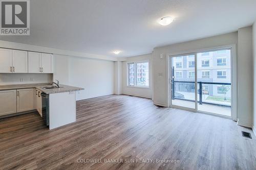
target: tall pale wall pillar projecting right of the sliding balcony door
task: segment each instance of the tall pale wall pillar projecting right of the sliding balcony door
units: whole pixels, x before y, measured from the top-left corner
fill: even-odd
[[[252,27],[238,30],[238,125],[252,127]]]

